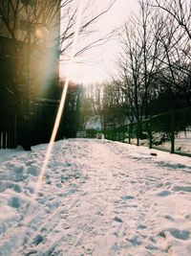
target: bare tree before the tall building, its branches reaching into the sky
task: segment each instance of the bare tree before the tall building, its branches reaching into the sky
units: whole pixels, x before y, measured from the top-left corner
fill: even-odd
[[[81,55],[84,51],[103,43],[112,35],[111,32],[102,37],[97,35],[92,40],[86,39],[87,36],[95,33],[92,26],[106,12],[109,12],[116,0],[111,0],[104,10],[97,12],[92,9],[93,0],[84,2],[78,32],[80,43],[75,48],[74,56]],[[68,58],[68,51],[74,41],[77,8],[76,0],[0,0],[0,33],[15,42],[12,48],[14,58],[11,61],[15,68],[12,68],[14,74],[11,77],[15,83],[21,83],[22,69],[25,69],[24,73],[27,74],[25,79],[27,82],[24,81],[25,94],[32,95],[34,89],[32,84],[29,85],[32,81],[37,79],[35,83],[38,84],[42,84],[43,80],[50,81],[53,69],[58,66],[60,55],[62,59]],[[51,71],[47,72],[49,78],[46,78],[45,71],[50,70],[51,64]],[[32,78],[34,70],[37,73]],[[6,85],[7,91],[13,94],[13,90],[17,88],[14,87],[11,88],[10,84]],[[20,90],[22,90],[21,87]],[[43,86],[35,86],[35,90],[38,90],[36,95],[40,93],[40,88]]]

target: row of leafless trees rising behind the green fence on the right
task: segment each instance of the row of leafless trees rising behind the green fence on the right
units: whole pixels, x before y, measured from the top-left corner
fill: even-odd
[[[191,105],[191,2],[140,0],[120,36],[118,76],[105,82],[108,126]]]

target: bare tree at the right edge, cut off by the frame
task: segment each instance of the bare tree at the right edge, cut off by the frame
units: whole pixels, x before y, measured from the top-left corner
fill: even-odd
[[[160,74],[167,86],[170,107],[183,99],[183,105],[190,105],[190,1],[152,1],[150,6],[158,10],[162,28],[158,35],[163,48],[162,70]],[[182,106],[183,106],[182,105]]]

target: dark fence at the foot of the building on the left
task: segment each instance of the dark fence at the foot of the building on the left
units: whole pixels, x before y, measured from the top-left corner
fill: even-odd
[[[32,114],[28,119],[16,113],[0,113],[0,149],[14,149],[18,145],[48,143],[51,138],[55,115],[59,102],[39,100],[32,105]],[[13,109],[12,109],[13,112]],[[56,139],[61,139],[60,126]]]

